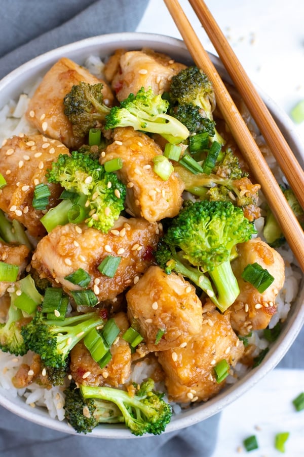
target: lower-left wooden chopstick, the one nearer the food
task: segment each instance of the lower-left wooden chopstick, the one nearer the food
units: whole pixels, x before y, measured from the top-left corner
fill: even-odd
[[[198,1],[198,0],[195,0]],[[212,81],[217,106],[229,126],[232,135],[248,162],[250,170],[267,199],[269,206],[280,222],[284,236],[304,272],[304,233],[289,207],[280,186],[266,160],[255,143],[247,125],[239,113],[231,95],[217,73],[209,55],[202,46],[177,0],[164,0],[183,40],[196,65],[203,69]]]

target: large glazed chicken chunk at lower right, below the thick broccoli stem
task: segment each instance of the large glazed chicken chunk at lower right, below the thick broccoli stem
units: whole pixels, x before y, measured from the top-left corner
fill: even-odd
[[[217,383],[215,365],[225,359],[230,366],[240,360],[244,345],[234,333],[229,318],[218,311],[203,314],[202,331],[185,347],[157,352],[165,371],[169,399],[176,402],[207,401],[224,387]]]

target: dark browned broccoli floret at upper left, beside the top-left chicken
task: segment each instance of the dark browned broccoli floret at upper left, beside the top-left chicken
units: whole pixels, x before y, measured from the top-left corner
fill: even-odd
[[[64,114],[72,124],[75,137],[84,137],[97,124],[102,124],[110,108],[103,103],[103,84],[80,82],[65,95]]]

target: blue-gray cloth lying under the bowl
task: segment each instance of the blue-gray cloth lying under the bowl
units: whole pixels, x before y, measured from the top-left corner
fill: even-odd
[[[153,1],[153,0],[151,0]],[[20,64],[73,41],[136,29],[148,0],[10,0],[0,15],[0,78]],[[300,334],[280,367],[304,368]],[[0,407],[2,457],[209,457],[219,415],[157,437],[112,440],[59,433],[20,419]]]

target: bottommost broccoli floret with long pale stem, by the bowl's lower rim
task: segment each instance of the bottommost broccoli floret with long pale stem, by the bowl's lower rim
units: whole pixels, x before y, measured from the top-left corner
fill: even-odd
[[[65,391],[65,417],[78,433],[91,432],[101,422],[125,422],[136,435],[159,435],[170,422],[171,407],[156,392],[148,379],[131,397],[127,391],[112,387],[74,385]]]

